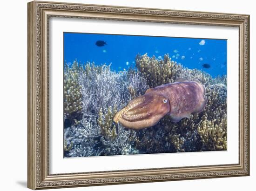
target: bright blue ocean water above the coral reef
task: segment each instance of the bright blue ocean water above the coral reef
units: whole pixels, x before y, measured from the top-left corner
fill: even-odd
[[[172,60],[190,69],[203,70],[213,77],[227,74],[227,40],[91,33],[63,36],[64,60],[69,64],[76,59],[81,63],[111,64],[111,69],[122,71],[135,67],[138,53],[158,59],[168,53]],[[107,45],[97,46],[98,40]]]

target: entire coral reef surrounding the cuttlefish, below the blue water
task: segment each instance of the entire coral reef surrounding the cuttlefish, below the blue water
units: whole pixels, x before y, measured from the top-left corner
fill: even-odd
[[[163,59],[138,54],[136,68],[115,72],[110,65],[78,63],[64,68],[64,156],[227,150],[227,80]],[[177,78],[199,79],[208,103],[203,112],[178,123],[169,116],[147,129],[131,130],[113,117],[150,87]]]

